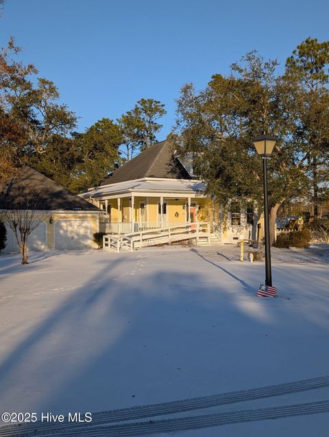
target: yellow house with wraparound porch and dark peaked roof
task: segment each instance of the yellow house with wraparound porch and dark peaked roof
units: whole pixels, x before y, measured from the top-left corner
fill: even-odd
[[[168,140],[151,145],[80,196],[105,211],[100,231],[109,234],[208,222],[212,243],[256,238],[252,205],[241,211],[232,202],[226,213],[204,194],[204,184],[193,175],[193,159],[177,156]]]

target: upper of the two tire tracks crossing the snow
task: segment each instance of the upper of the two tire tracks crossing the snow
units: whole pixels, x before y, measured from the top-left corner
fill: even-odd
[[[123,408],[120,410],[111,410],[105,412],[93,413],[93,422],[91,423],[34,423],[25,425],[7,425],[0,427],[0,437],[9,436],[41,436],[43,433],[61,433],[61,432],[78,432],[78,429],[87,429],[98,427],[109,423],[121,421],[140,420],[154,416],[164,416],[180,412],[201,410],[204,408],[217,407],[219,405],[228,405],[230,403],[239,403],[252,401],[256,399],[265,399],[268,397],[282,396],[303,392],[306,390],[315,390],[329,386],[329,375],[311,379],[302,379],[289,383],[281,383],[273,386],[252,388],[248,390],[239,390],[210,396],[197,397],[192,399],[182,399],[180,401],[171,401],[156,403],[151,405],[136,406]],[[214,425],[215,426],[215,425]],[[90,429],[91,431],[91,429]],[[45,434],[46,435],[46,434]]]

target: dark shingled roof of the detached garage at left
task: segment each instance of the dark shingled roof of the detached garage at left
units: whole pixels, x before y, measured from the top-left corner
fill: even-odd
[[[17,169],[12,177],[0,183],[0,209],[100,211],[27,166]]]

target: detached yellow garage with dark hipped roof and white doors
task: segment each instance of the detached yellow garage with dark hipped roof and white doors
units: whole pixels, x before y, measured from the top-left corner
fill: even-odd
[[[26,166],[1,182],[0,210],[21,209],[18,192],[24,199],[24,205],[33,205],[33,209],[43,213],[49,211],[49,218],[29,235],[29,250],[93,248],[93,233],[99,231],[99,215],[102,213],[97,206]],[[3,252],[19,252],[10,228]]]

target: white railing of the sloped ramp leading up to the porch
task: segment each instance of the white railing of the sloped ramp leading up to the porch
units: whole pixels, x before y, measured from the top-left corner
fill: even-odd
[[[163,226],[125,235],[104,235],[103,249],[116,252],[125,249],[133,252],[145,246],[170,244],[173,241],[187,239],[195,239],[198,243],[202,237],[210,243],[210,224],[208,222],[175,224],[175,226]]]

